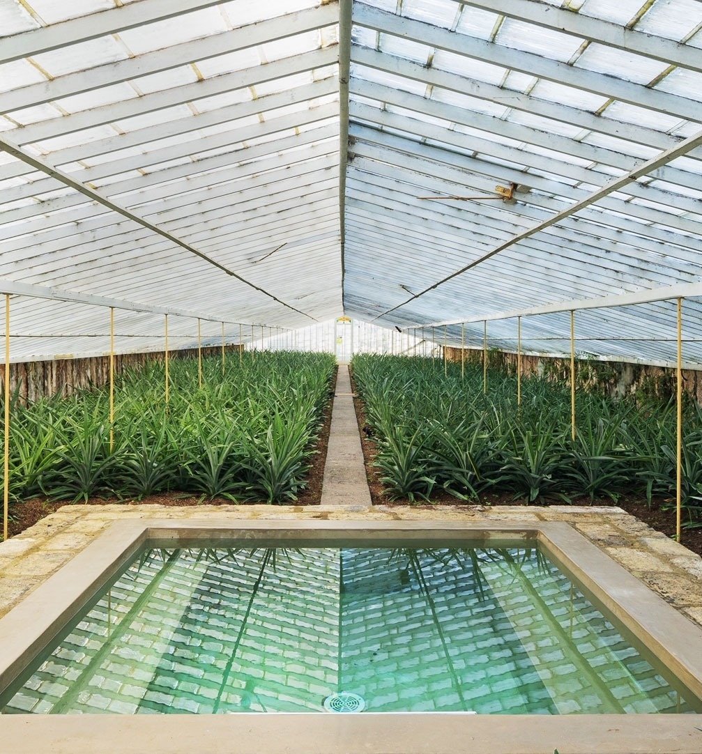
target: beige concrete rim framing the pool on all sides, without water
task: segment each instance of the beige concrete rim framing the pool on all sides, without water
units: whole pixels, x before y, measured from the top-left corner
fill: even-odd
[[[149,513],[154,513],[150,507]],[[63,510],[63,509],[62,509]],[[124,507],[121,507],[124,511]],[[130,509],[127,509],[130,510]],[[173,509],[168,510],[168,513]],[[237,512],[240,508],[235,509]],[[655,596],[624,567],[618,566],[602,549],[625,547],[614,544],[617,529],[596,531],[596,521],[581,517],[575,526],[590,530],[590,541],[576,528],[561,521],[544,521],[538,516],[563,515],[563,510],[553,508],[521,510],[444,510],[437,518],[437,510],[419,511],[397,509],[324,511],[320,508],[304,509],[308,515],[293,515],[298,511],[265,508],[265,516],[222,516],[222,507],[216,507],[209,516],[201,516],[201,507],[195,513],[170,516],[167,520],[152,520],[149,516],[131,516],[110,527],[65,569],[51,578],[29,599],[23,600],[16,610],[0,623],[0,673],[2,668],[17,667],[26,661],[26,647],[37,640],[46,630],[52,630],[63,621],[66,606],[81,599],[94,582],[108,578],[114,571],[110,564],[115,559],[124,561],[149,535],[164,535],[176,541],[187,531],[192,536],[195,530],[203,538],[212,535],[231,536],[232,530],[247,532],[250,536],[284,537],[294,532],[305,538],[337,535],[363,536],[375,534],[397,535],[415,538],[453,536],[458,532],[471,537],[501,532],[510,538],[522,532],[523,536],[538,537],[547,549],[566,563],[569,569],[584,581],[599,599],[615,611],[627,627],[654,648],[673,672],[692,690],[702,690],[702,630]],[[582,509],[580,509],[582,510]],[[627,516],[618,509],[585,508],[590,516],[601,519],[602,511],[615,511],[618,516]],[[383,513],[379,518],[371,512]],[[548,512],[548,513],[546,513]],[[577,510],[566,508],[573,515]],[[164,513],[159,510],[158,513]],[[283,513],[283,515],[280,515]],[[302,513],[302,511],[299,511]],[[407,515],[424,513],[425,515]],[[517,513],[517,515],[514,515]],[[502,514],[502,515],[500,515]],[[103,513],[104,515],[104,513]],[[611,515],[611,513],[609,513]],[[195,520],[197,516],[200,520]],[[587,513],[581,513],[587,516]],[[115,516],[122,517],[122,516]],[[327,520],[314,520],[326,518]],[[577,516],[576,516],[577,517]],[[631,519],[630,516],[628,516]],[[135,520],[136,519],[136,520]],[[139,520],[143,519],[143,520]],[[312,520],[310,520],[312,519]],[[511,520],[510,520],[511,519]],[[90,520],[90,519],[89,519]],[[93,520],[94,522],[94,520]],[[628,522],[636,529],[636,520]],[[572,522],[571,522],[572,524]],[[602,526],[602,521],[599,521]],[[93,527],[96,528],[97,527]],[[104,527],[100,527],[103,529]],[[612,529],[612,530],[610,530]],[[645,527],[648,529],[648,527]],[[486,531],[486,530],[489,530]],[[648,530],[650,532],[650,530]],[[64,532],[70,533],[70,532]],[[75,533],[75,532],[73,532]],[[639,533],[640,529],[639,529]],[[645,532],[648,533],[648,532]],[[595,535],[595,536],[593,536]],[[609,547],[595,546],[597,537],[605,538]],[[646,537],[645,537],[646,538]],[[654,538],[655,539],[655,538]],[[8,543],[10,544],[10,543]],[[656,543],[662,547],[661,543]],[[675,544],[675,543],[671,543]],[[679,547],[676,545],[676,547]],[[630,549],[630,548],[627,548]],[[685,548],[682,548],[684,550]],[[655,552],[653,548],[653,552]],[[668,550],[671,559],[686,558],[684,552],[675,548]],[[2,553],[2,550],[0,550]],[[651,553],[652,554],[652,553]],[[689,553],[690,555],[692,553]],[[29,555],[28,555],[29,557]],[[673,575],[673,569],[665,570],[667,562],[653,556],[652,562],[661,562],[661,572]],[[53,562],[51,563],[53,566]],[[648,562],[645,563],[648,565]],[[676,564],[679,567],[679,564]],[[692,578],[694,569],[689,572]],[[82,583],[81,583],[82,581]],[[2,582],[0,582],[2,583]],[[54,605],[51,608],[51,605]],[[63,612],[62,612],[63,611]],[[639,628],[640,627],[640,628]],[[642,634],[643,631],[643,634]],[[24,649],[23,649],[24,648]],[[13,671],[5,673],[5,679]],[[2,677],[2,675],[0,675]],[[150,716],[3,716],[0,719],[0,734],[10,745],[12,752],[71,752],[82,754],[104,748],[109,740],[111,752],[143,749],[149,739],[149,750],[158,752],[185,752],[197,748],[195,731],[207,736],[209,751],[305,751],[342,752],[351,745],[356,750],[367,752],[550,752],[560,748],[563,752],[688,752],[702,751],[702,715],[641,715],[641,716],[465,716],[461,713],[364,713],[363,716],[329,716],[315,713],[304,715],[241,714],[224,716],[168,716],[155,722]],[[195,722],[197,721],[197,722]],[[108,731],[115,733],[119,742]],[[181,731],[174,733],[174,731]],[[207,732],[206,732],[207,731]],[[392,735],[388,731],[394,731]],[[250,744],[245,743],[247,740]],[[189,744],[185,744],[190,740]],[[201,742],[201,738],[199,739]],[[114,745],[112,744],[114,742]],[[235,742],[235,743],[233,743]],[[123,747],[123,748],[120,748]]]

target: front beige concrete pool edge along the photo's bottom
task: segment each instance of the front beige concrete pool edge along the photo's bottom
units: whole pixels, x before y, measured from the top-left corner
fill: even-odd
[[[552,754],[555,749],[561,754],[699,754],[702,750],[696,715],[166,717],[10,715],[3,719],[2,738],[12,754]]]

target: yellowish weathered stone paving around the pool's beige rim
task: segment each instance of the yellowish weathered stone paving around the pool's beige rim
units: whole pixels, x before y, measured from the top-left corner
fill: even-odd
[[[471,523],[563,521],[605,550],[691,621],[702,625],[702,559],[618,507],[271,505],[66,505],[0,543],[0,616],[45,581],[113,521],[135,518],[394,520]]]

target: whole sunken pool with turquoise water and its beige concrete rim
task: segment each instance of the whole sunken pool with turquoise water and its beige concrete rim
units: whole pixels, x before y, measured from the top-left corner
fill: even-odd
[[[699,752],[702,631],[563,523],[130,520],[0,620],[0,693],[18,754]]]

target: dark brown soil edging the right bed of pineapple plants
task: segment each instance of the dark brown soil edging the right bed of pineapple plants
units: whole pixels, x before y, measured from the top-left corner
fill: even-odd
[[[376,460],[376,443],[366,434],[366,413],[364,411],[363,402],[357,397],[356,384],[354,382],[354,375],[351,373],[351,389],[354,392],[354,406],[356,409],[356,418],[358,420],[358,426],[360,428],[360,440],[361,447],[363,448],[363,459],[366,465],[366,477],[368,477],[368,486],[370,488],[370,497],[373,505],[391,505],[391,506],[404,506],[411,505],[419,510],[431,510],[433,505],[453,505],[455,507],[472,507],[473,505],[524,505],[525,501],[522,498],[513,498],[511,493],[494,493],[487,492],[480,495],[474,503],[469,503],[464,500],[458,500],[452,495],[446,492],[437,493],[432,496],[431,503],[417,503],[409,501],[408,499],[391,500],[388,497],[388,493],[385,486],[380,481],[379,470],[376,468],[374,461]],[[548,504],[547,502],[539,502],[540,505]],[[563,505],[563,501],[557,501],[557,504]],[[593,501],[590,498],[574,498],[572,500],[573,505],[597,505],[607,507],[621,507],[631,513],[632,516],[642,520],[645,524],[655,529],[658,532],[673,537],[676,533],[676,513],[673,507],[671,508],[671,502],[664,499],[653,499],[651,506],[645,501],[645,498],[638,498],[636,496],[622,496],[615,503],[610,498],[595,498]],[[685,524],[685,517],[683,513],[683,525]],[[702,556],[702,528],[700,529],[682,529],[680,537],[681,544],[684,544],[688,550],[697,553]]]

